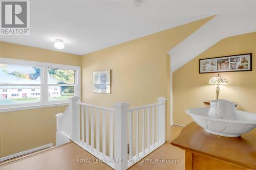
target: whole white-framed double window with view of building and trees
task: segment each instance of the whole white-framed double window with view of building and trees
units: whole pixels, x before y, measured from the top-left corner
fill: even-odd
[[[79,66],[0,58],[0,77],[0,108],[57,106],[80,96]]]

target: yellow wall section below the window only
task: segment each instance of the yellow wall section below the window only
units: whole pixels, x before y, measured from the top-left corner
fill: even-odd
[[[67,106],[0,113],[0,156],[55,145],[56,113]]]

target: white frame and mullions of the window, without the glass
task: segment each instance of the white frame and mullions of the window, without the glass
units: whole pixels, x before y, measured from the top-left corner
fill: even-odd
[[[49,98],[49,86],[56,86],[57,84],[48,84],[48,67],[59,69],[71,69],[75,70],[75,96],[80,98],[81,93],[81,67],[74,65],[63,65],[46,62],[18,60],[0,57],[0,63],[24,65],[24,66],[36,66],[41,68],[41,84],[22,84],[22,86],[40,86],[40,103],[27,103],[27,104],[15,104],[0,106],[0,112],[27,110],[45,107],[65,106],[69,104],[69,101],[48,101]],[[66,84],[65,84],[66,85]],[[0,86],[20,86],[20,84],[0,84]],[[58,85],[57,85],[58,86]],[[67,86],[67,85],[66,85]],[[73,86],[73,84],[72,84]]]

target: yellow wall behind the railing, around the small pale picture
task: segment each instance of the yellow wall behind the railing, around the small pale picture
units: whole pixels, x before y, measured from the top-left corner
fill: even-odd
[[[82,101],[113,106],[125,101],[132,107],[156,103],[167,95],[166,53],[212,17],[118,44],[82,57]],[[112,69],[112,93],[93,92],[92,72]],[[167,110],[167,125],[170,125]],[[169,138],[169,126],[166,131]]]

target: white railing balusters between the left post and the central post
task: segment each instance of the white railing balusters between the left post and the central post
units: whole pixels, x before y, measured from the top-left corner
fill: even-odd
[[[108,164],[112,168],[114,168],[114,145],[113,145],[113,126],[114,126],[114,109],[95,106],[91,104],[81,103],[73,100],[75,106],[77,107],[76,110],[78,111],[78,115],[73,119],[75,122],[75,132],[78,136],[75,136],[72,139],[75,143],[80,145],[84,150],[88,151],[95,157],[102,160],[104,163]],[[79,117],[80,113],[80,117]],[[100,117],[102,120],[102,127],[100,128]],[[106,118],[108,117],[108,118]],[[95,124],[96,120],[96,124]],[[106,154],[106,122],[108,122],[108,131],[109,131],[109,154]],[[100,136],[100,131],[101,136]],[[96,135],[95,135],[96,134]],[[100,138],[102,139],[100,142]],[[100,150],[100,143],[102,149]]]

